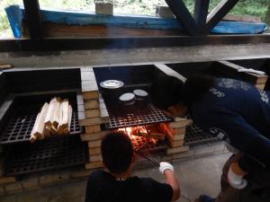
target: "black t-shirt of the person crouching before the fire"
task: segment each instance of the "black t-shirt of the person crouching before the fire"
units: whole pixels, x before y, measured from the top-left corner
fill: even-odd
[[[106,171],[94,171],[87,182],[85,202],[169,202],[173,189],[149,178],[115,180]]]

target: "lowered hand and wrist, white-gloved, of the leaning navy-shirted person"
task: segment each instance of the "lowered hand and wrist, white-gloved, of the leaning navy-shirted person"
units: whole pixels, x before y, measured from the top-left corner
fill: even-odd
[[[234,189],[244,189],[247,186],[247,180],[244,179],[244,176],[247,173],[242,171],[239,166],[238,162],[233,162],[229,166],[228,172],[228,180],[229,184]]]

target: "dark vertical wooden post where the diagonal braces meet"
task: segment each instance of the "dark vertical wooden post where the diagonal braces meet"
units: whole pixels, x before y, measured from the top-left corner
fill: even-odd
[[[195,0],[193,16],[200,32],[203,32],[202,30],[204,29],[206,23],[209,2],[210,0]]]

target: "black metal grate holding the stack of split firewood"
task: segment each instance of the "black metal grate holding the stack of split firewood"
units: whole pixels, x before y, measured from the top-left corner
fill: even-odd
[[[68,98],[73,108],[70,133],[67,136],[79,135],[82,132],[78,123],[78,114],[76,106],[76,92],[58,93],[58,96]],[[15,97],[7,117],[3,120],[5,127],[1,129],[0,145],[29,142],[31,129],[35,123],[40,108],[45,101],[50,101],[50,98],[56,94],[42,94],[31,96]],[[30,102],[28,102],[30,101]],[[54,138],[50,136],[49,138]]]

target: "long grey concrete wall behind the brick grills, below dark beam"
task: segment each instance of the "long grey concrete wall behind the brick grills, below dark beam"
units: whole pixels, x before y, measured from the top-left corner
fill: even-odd
[[[270,57],[270,44],[10,52],[0,53],[0,64],[13,64],[16,67],[113,66],[116,64],[195,62],[252,57]]]

